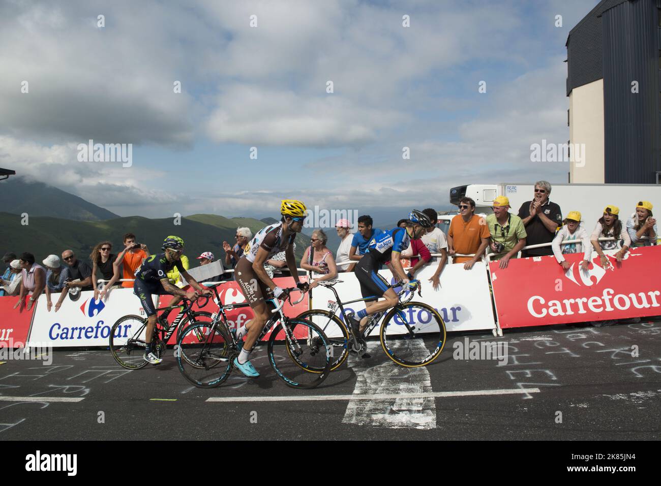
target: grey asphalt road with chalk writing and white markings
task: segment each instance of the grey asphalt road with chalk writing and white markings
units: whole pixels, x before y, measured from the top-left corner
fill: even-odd
[[[235,371],[210,390],[190,386],[171,351],[128,371],[109,351],[60,350],[50,365],[0,365],[0,440],[654,440],[660,338],[661,322],[451,336],[426,368],[401,368],[378,348],[305,391],[276,377],[263,347],[260,378]],[[500,343],[507,356],[455,359],[465,339]]]

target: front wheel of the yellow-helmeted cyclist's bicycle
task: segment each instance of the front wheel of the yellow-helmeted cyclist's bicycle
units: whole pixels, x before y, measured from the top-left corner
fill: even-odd
[[[268,360],[278,376],[292,388],[315,388],[331,372],[331,345],[315,324],[288,319],[268,339]]]

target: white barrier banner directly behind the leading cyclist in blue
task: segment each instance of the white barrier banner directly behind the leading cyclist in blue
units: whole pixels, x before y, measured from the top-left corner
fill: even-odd
[[[447,331],[494,330],[496,322],[491,305],[491,294],[486,276],[486,265],[478,261],[470,270],[465,270],[463,264],[446,265],[441,274],[441,287],[438,291],[428,279],[434,275],[437,265],[428,265],[416,274],[416,279],[422,282],[422,298],[416,295],[413,301],[424,302],[435,308],[446,323]],[[389,283],[395,283],[389,270],[381,270],[379,274]],[[338,273],[338,283],[334,286],[342,302],[356,300],[361,297],[360,283],[354,273]],[[315,287],[312,291],[311,309],[329,309],[329,300],[335,301],[330,289]],[[358,312],[365,308],[364,302],[355,302],[344,306],[344,310]],[[339,314],[340,310],[336,311]],[[340,319],[342,317],[340,316]],[[377,335],[378,328],[371,335]],[[329,337],[338,337],[331,336]]]

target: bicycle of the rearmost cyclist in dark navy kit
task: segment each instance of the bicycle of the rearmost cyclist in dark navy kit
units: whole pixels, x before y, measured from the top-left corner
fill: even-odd
[[[209,302],[209,296],[201,296],[200,299],[204,300],[204,304],[199,307],[204,307]],[[153,343],[153,352],[157,357],[163,357],[167,343],[169,342],[175,330],[177,331],[176,341],[181,335],[182,330],[188,324],[198,322],[210,322],[212,320],[211,312],[196,311],[193,312],[192,306],[196,300],[189,300],[183,298],[182,302],[175,306],[166,306],[157,308],[156,311],[166,311],[180,308],[173,324],[168,324],[167,320],[163,318],[163,314],[159,316],[154,334],[151,339]],[[188,305],[186,305],[188,304]],[[137,370],[147,366],[149,363],[145,361],[143,355],[145,353],[146,341],[145,330],[147,328],[147,318],[129,314],[119,318],[110,330],[110,353],[112,357],[129,370]]]

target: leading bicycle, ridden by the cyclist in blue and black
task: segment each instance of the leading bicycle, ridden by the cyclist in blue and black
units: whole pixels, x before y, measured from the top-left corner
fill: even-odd
[[[311,320],[329,337],[331,342],[331,370],[342,365],[348,357],[349,351],[352,351],[362,357],[367,351],[366,339],[354,335],[351,326],[347,326],[347,312],[344,306],[354,302],[365,302],[373,300],[375,296],[366,298],[357,298],[342,302],[334,286],[338,281],[317,282],[327,289],[330,289],[335,296],[335,300],[328,301],[328,309],[311,309],[301,312],[298,318]],[[410,291],[402,287],[397,294],[400,298],[405,294],[405,298],[399,300],[399,303],[388,310],[377,312],[368,316],[368,325],[363,335],[365,338],[370,336],[381,320],[381,329],[379,331],[379,341],[385,355],[398,365],[415,368],[426,366],[432,363],[442,353],[446,345],[446,323],[432,306],[423,302],[411,302],[414,297],[415,287],[418,290],[418,296],[422,297],[420,285],[417,281],[412,281],[414,286]],[[395,289],[402,286],[401,282],[391,285]],[[339,316],[338,314],[339,310]]]

